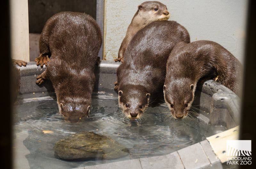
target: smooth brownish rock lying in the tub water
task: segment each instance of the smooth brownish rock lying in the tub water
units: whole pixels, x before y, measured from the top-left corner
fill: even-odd
[[[59,140],[54,146],[54,151],[60,158],[67,160],[86,158],[113,159],[129,154],[129,151],[115,140],[88,131],[76,133]]]

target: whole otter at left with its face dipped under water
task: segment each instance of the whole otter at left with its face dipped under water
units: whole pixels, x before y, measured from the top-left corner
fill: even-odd
[[[85,13],[60,12],[44,26],[39,45],[43,55],[51,55],[51,62],[36,83],[52,81],[64,117],[81,118],[90,111],[101,42],[98,24]]]

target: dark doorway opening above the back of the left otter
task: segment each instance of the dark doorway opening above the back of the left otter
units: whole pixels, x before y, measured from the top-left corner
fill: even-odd
[[[41,33],[45,22],[61,11],[85,12],[96,20],[96,0],[28,0],[29,33]]]

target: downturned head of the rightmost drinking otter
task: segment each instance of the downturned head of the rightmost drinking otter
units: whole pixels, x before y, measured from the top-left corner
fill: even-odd
[[[168,105],[172,117],[183,119],[193,103],[196,86],[191,80],[184,78],[171,80],[164,85],[164,100]]]

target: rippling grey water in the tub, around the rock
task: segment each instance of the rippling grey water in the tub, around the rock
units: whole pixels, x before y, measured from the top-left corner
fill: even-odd
[[[216,134],[215,126],[198,118],[171,120],[163,113],[166,111],[164,105],[148,107],[143,120],[127,120],[121,118],[116,96],[93,95],[90,116],[70,123],[58,113],[56,99],[19,101],[13,127],[18,145],[14,147],[28,151],[24,154],[31,168],[64,169],[165,155]],[[53,146],[58,140],[84,130],[115,139],[129,149],[130,155],[115,160],[66,161],[54,154]]]

